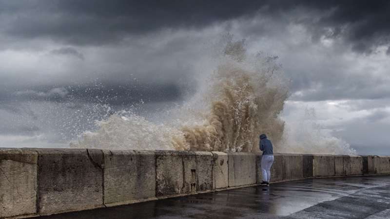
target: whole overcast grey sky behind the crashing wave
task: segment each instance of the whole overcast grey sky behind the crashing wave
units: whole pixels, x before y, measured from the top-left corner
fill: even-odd
[[[358,153],[390,155],[389,11],[387,0],[0,0],[0,146],[52,146],[141,99],[179,102],[231,33],[279,56],[287,121],[314,108]]]

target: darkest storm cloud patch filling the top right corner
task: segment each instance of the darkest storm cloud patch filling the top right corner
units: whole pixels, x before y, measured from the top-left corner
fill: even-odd
[[[352,42],[353,49],[370,53],[372,47],[390,42],[390,2],[377,1],[326,1],[332,12],[312,22],[313,29],[327,37],[344,37]],[[332,3],[331,3],[332,2]],[[324,7],[322,7],[324,9]],[[319,25],[318,25],[319,24]]]

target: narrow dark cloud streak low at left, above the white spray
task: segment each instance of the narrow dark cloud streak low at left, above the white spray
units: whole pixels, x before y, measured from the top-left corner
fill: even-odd
[[[176,84],[78,84],[76,86],[29,88],[0,97],[0,103],[14,101],[92,102],[110,105],[129,105],[143,102],[179,100],[182,93]],[[77,107],[76,107],[77,108]],[[2,104],[0,109],[20,112],[14,105]]]

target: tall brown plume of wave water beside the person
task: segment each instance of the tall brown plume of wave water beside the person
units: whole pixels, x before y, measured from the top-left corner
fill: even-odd
[[[261,132],[267,133],[275,145],[281,140],[284,123],[278,115],[287,89],[272,81],[278,69],[251,71],[244,65],[230,60],[212,75],[207,93],[212,97],[208,120],[201,126],[182,128],[188,149],[254,151]]]

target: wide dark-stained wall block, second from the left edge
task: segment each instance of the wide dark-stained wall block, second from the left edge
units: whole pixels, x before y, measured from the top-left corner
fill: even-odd
[[[103,164],[98,163],[102,161],[101,150],[37,151],[39,214],[103,206]]]

